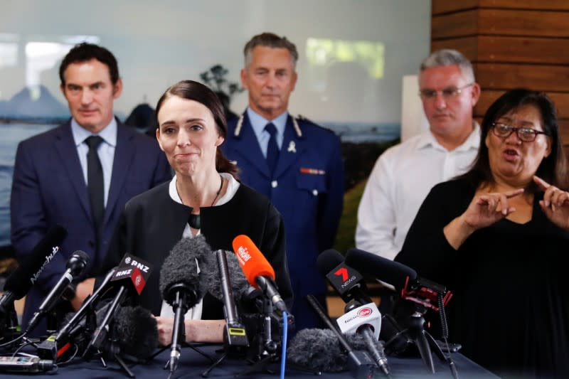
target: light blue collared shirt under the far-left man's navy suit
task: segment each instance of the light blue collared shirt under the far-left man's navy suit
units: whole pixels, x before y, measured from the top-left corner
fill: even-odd
[[[92,134],[84,127],[81,127],[75,119],[71,119],[71,134],[75,142],[75,148],[79,155],[79,163],[83,170],[83,178],[87,182],[87,153],[89,146],[85,143],[85,139],[90,136],[97,135],[103,139],[103,142],[97,147],[97,154],[102,166],[102,180],[105,188],[105,207],[109,198],[109,189],[111,187],[112,162],[115,160],[115,149],[117,147],[117,120],[112,117],[111,122],[102,129],[99,134]]]

